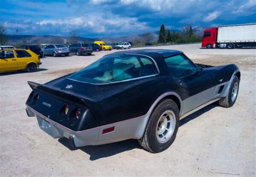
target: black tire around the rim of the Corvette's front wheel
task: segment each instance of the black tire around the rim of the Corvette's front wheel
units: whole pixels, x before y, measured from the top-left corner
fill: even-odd
[[[223,107],[232,107],[235,103],[235,100],[237,100],[237,96],[238,96],[238,91],[239,91],[239,83],[240,83],[240,80],[238,79],[237,76],[234,76],[232,81],[231,81],[231,85],[230,85],[230,88],[228,90],[228,94],[226,97],[223,97],[219,100],[219,105],[220,106],[223,106]],[[237,84],[237,93],[235,95],[235,98],[233,97],[234,96],[234,92],[233,92],[233,89],[235,87],[235,84]]]

